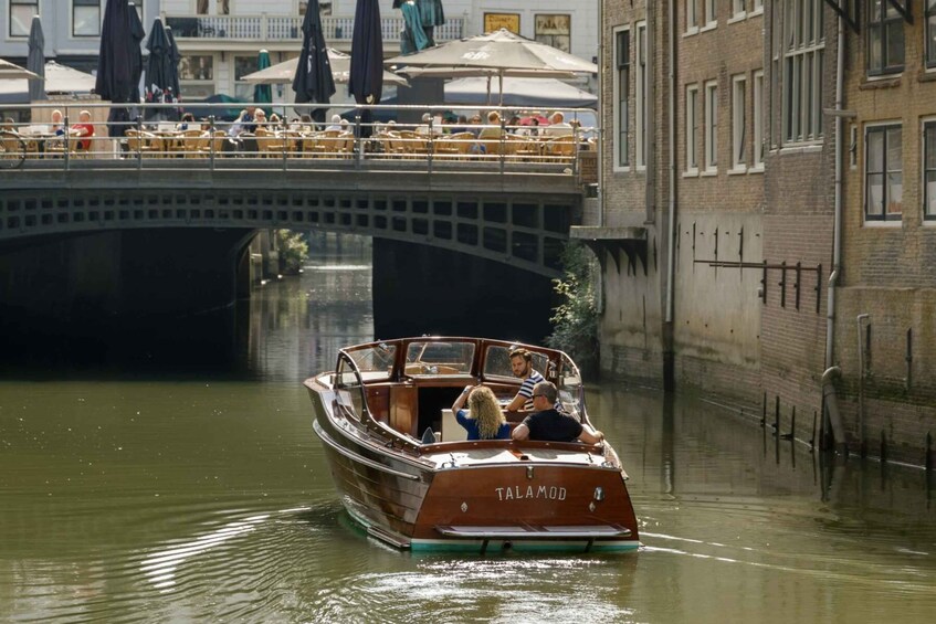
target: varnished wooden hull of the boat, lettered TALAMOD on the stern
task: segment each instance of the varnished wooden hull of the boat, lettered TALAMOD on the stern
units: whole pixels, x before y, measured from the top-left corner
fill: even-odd
[[[341,503],[388,543],[483,552],[640,546],[610,447],[599,456],[580,444],[490,441],[413,453],[351,426],[334,408],[336,391],[314,380],[306,385]]]

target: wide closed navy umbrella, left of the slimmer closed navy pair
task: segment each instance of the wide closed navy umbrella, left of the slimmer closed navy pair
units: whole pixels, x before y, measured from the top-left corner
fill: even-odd
[[[102,99],[109,99],[114,104],[133,102],[139,88],[139,76],[135,75],[133,59],[139,51],[143,36],[141,32],[134,32],[130,12],[127,0],[107,0],[104,9],[95,92]],[[129,121],[130,115],[126,107],[112,106],[107,116],[111,137],[122,137]]]

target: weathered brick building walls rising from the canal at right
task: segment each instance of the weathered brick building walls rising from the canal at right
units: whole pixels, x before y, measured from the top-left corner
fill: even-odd
[[[918,137],[936,135],[936,82],[921,77],[925,54],[909,43],[927,27],[902,25],[902,76],[869,80],[866,24],[852,32],[828,6],[808,24],[786,23],[793,13],[782,2],[713,4],[694,18],[685,4],[649,6],[602,2],[609,131],[600,200],[582,224],[596,239],[619,233],[617,247],[590,244],[602,276],[601,372],[702,392],[813,445],[828,442],[822,415],[834,396],[837,443],[932,467],[936,210],[922,197]],[[808,45],[780,49],[803,24]],[[799,92],[811,99],[789,98],[788,59],[814,71]],[[830,113],[837,93],[841,114]],[[865,155],[879,126],[903,133],[887,152],[903,198],[875,221]],[[622,253],[628,245],[644,245],[645,262]]]

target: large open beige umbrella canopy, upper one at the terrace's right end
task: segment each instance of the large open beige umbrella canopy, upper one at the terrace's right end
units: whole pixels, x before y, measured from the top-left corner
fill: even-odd
[[[551,45],[514,34],[506,29],[471,39],[450,41],[414,54],[395,56],[387,65],[411,67],[475,67],[508,75],[519,71],[558,71],[595,74],[598,65]]]

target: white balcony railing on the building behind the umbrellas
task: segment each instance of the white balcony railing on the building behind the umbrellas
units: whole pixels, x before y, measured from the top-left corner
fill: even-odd
[[[296,15],[164,15],[177,39],[223,41],[302,41],[303,19]],[[402,18],[383,18],[380,21],[383,41],[400,40]],[[350,41],[354,17],[324,17],[322,29],[326,41]],[[451,41],[464,36],[464,19],[453,18],[437,27],[435,41]]]

